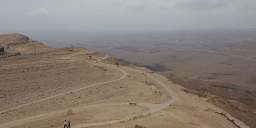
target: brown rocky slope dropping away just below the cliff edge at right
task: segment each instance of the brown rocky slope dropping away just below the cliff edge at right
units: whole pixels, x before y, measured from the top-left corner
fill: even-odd
[[[233,117],[242,120],[250,126],[256,125],[254,121],[256,118],[256,111],[254,108],[250,107],[255,106],[255,102],[254,99],[248,96],[251,94],[249,90],[245,91],[244,93],[240,93],[239,91],[234,91],[232,89],[223,87],[218,87],[216,89],[214,86],[209,86],[211,83],[198,79],[191,79],[173,74],[168,75],[167,77],[173,83],[186,87],[188,93],[208,98],[209,102],[213,103],[219,108],[222,108],[226,112],[230,113]],[[246,94],[247,98],[241,97]]]

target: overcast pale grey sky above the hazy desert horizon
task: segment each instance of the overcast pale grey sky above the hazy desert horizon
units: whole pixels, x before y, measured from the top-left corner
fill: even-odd
[[[256,28],[256,0],[1,0],[0,30]]]

